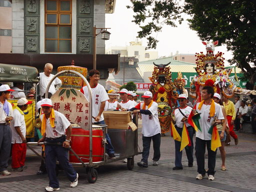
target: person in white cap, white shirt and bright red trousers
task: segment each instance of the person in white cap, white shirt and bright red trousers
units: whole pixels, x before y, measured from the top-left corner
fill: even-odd
[[[27,101],[21,97],[17,101],[17,107],[13,110],[13,119],[10,122],[11,128],[11,167],[13,171],[22,171],[27,167],[24,166],[26,157],[26,124],[23,111],[32,101]]]

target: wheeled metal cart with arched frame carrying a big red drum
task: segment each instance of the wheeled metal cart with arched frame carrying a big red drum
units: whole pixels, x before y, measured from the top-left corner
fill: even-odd
[[[63,89],[58,90],[57,92],[55,92],[52,97],[52,103],[54,103],[54,105],[56,103],[58,103],[59,105],[64,104],[61,103],[61,99],[65,98],[61,98],[60,95],[66,95],[67,98],[69,96],[69,94],[73,93],[74,95],[77,95],[76,98],[78,100],[78,97],[81,99],[77,103],[74,102],[74,104],[76,104],[76,111],[77,111],[77,104],[83,104],[88,103],[88,117],[85,119],[87,119],[85,121],[86,126],[83,126],[81,123],[76,123],[75,125],[72,126],[72,134],[71,134],[71,147],[69,148],[69,162],[73,165],[73,166],[82,166],[85,167],[85,171],[87,173],[87,180],[90,183],[94,183],[97,180],[97,170],[95,169],[96,167],[100,166],[100,165],[104,165],[107,163],[112,163],[118,160],[123,160],[124,158],[127,158],[127,168],[129,170],[131,170],[134,166],[134,155],[140,154],[141,152],[138,151],[138,146],[137,146],[137,136],[138,136],[138,132],[137,129],[132,131],[131,129],[107,129],[107,125],[105,124],[92,124],[92,107],[91,104],[92,103],[92,96],[91,96],[91,88],[89,86],[88,81],[86,80],[86,78],[81,75],[79,72],[73,71],[73,70],[63,70],[58,72],[57,74],[55,74],[51,81],[49,82],[49,84],[47,85],[46,88],[46,92],[45,92],[45,97],[48,97],[48,90],[49,90],[49,86],[52,83],[52,81],[60,74],[62,73],[74,73],[76,75],[78,75],[79,77],[81,77],[83,79],[83,81],[86,83],[87,87],[88,87],[88,92],[89,92],[89,98],[88,100],[86,99],[86,97],[79,92],[78,90],[74,90],[74,89],[70,89],[67,88],[65,90],[66,94],[63,93]],[[74,92],[75,91],[75,92]],[[70,96],[71,98],[71,96]],[[69,99],[70,101],[70,99]],[[67,102],[69,103],[69,102]],[[70,101],[71,103],[71,101]],[[66,104],[65,104],[66,106]],[[53,106],[54,107],[54,106]],[[59,106],[59,108],[57,108],[58,111],[60,111],[61,113],[66,113],[66,111],[61,110],[61,106]],[[65,107],[66,109],[66,107]],[[83,110],[83,108],[81,108],[80,110]],[[83,113],[84,114],[84,113]],[[68,114],[68,116],[71,115],[76,115],[75,112],[70,112],[70,115]],[[81,119],[83,119],[84,116],[82,116]],[[71,120],[72,121],[72,120]],[[72,121],[73,122],[73,121]],[[79,126],[78,126],[78,125]],[[137,126],[137,115],[135,118],[135,124]],[[98,130],[100,131],[98,131]],[[101,131],[103,130],[103,131]],[[78,131],[78,133],[77,133]],[[85,134],[85,131],[87,131],[87,135]],[[93,132],[98,132],[99,134],[94,135]],[[108,158],[108,155],[105,154],[105,144],[106,144],[106,139],[105,139],[105,134],[106,132],[108,132],[110,138],[111,138],[111,142],[112,145],[114,147],[115,150],[115,155],[116,158],[114,159],[110,159]],[[100,135],[101,134],[101,135]],[[80,136],[80,138],[78,139],[78,137],[76,136]],[[87,140],[87,144],[88,146],[85,144],[86,139],[84,138],[88,138]],[[95,138],[100,137],[100,141],[96,143]],[[94,140],[93,140],[94,139]],[[76,142],[77,141],[77,142]],[[76,143],[76,144],[74,144]],[[95,144],[96,145],[95,147]],[[101,145],[101,146],[100,146]],[[93,147],[94,146],[94,147]],[[85,154],[85,148],[88,147],[88,154]],[[101,151],[101,155],[98,154],[94,154],[95,150],[100,149],[100,147],[102,148]],[[82,154],[81,154],[82,153]],[[37,153],[38,154],[38,153]],[[75,156],[75,158],[73,158]]]

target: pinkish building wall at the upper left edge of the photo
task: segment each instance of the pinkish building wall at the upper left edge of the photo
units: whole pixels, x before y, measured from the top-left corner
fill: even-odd
[[[0,29],[11,29],[11,17],[11,7],[0,6]],[[11,36],[0,36],[0,53],[10,53],[11,48]]]

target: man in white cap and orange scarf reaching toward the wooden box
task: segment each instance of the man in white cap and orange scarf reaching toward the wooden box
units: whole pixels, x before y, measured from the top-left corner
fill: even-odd
[[[152,100],[152,93],[145,91],[143,96],[144,102],[138,103],[135,107],[130,108],[133,113],[139,112],[142,118],[142,143],[143,151],[141,161],[138,166],[147,167],[147,158],[149,155],[150,142],[153,141],[153,165],[158,165],[160,158],[161,128],[158,119],[157,103]]]

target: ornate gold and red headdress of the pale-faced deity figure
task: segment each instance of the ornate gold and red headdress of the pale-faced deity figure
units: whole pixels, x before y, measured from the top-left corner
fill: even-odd
[[[214,73],[219,74],[219,72],[224,69],[224,59],[225,58],[222,57],[223,54],[224,53],[218,51],[217,54],[214,55],[212,50],[207,51],[206,54],[203,54],[202,52],[195,53],[195,56],[197,57],[195,59],[196,72],[199,75],[204,75],[205,74],[205,70],[204,70],[205,64],[212,63],[215,65]]]

